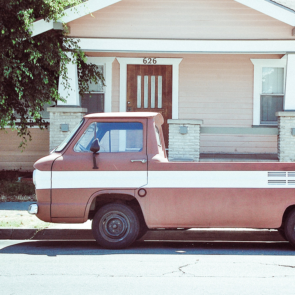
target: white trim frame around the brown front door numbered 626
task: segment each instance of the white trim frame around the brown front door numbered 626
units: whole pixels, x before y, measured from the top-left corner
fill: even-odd
[[[127,99],[127,64],[141,65],[143,58],[119,58],[120,64],[120,98],[119,111],[126,112]],[[178,80],[179,80],[179,64],[182,58],[157,58],[157,65],[172,65],[172,119],[178,119]]]

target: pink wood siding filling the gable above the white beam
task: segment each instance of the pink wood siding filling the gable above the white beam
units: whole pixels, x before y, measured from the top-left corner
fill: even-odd
[[[69,22],[75,37],[293,39],[292,27],[233,0],[122,0]]]

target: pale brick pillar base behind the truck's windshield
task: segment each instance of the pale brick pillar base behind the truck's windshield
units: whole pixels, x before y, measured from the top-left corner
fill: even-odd
[[[81,121],[87,109],[81,107],[50,107],[49,150],[60,145]]]

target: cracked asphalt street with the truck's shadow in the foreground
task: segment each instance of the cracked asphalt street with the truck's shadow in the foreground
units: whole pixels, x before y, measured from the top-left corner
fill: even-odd
[[[0,241],[0,294],[294,294],[287,242]]]

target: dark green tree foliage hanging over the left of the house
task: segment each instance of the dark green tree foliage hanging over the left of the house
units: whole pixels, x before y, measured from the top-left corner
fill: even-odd
[[[96,65],[86,64],[85,54],[77,41],[67,36],[66,29],[32,37],[34,21],[57,21],[65,7],[83,0],[0,2],[0,129],[17,129],[22,146],[26,137],[31,138],[28,127],[47,128],[40,114],[45,104],[63,101],[58,94],[58,79],[61,76],[65,87],[70,88],[67,63],[77,63],[80,94],[88,91],[89,80],[98,83],[103,76]]]

